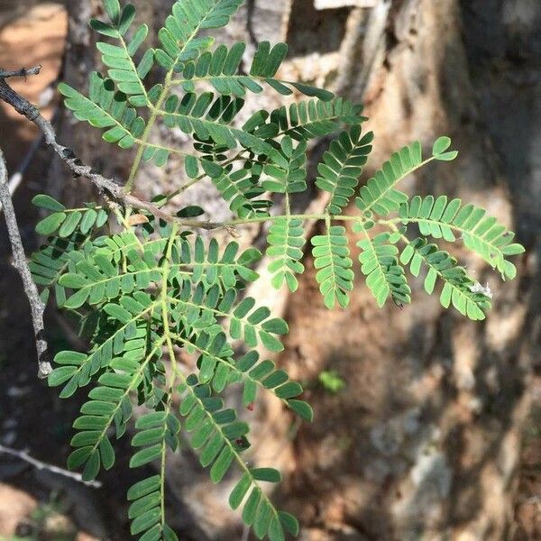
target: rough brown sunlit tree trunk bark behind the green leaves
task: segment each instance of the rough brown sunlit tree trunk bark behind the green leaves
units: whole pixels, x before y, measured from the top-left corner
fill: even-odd
[[[154,15],[160,21],[170,6],[140,4],[146,5],[147,21]],[[328,313],[307,256],[298,293],[273,306],[285,311],[291,327],[280,362],[308,381],[316,421],[295,426],[290,436],[289,414],[265,402],[258,415],[265,428],[256,430],[260,439],[250,460],[287,472],[277,497],[298,512],[305,540],[508,538],[540,329],[535,255],[541,109],[535,96],[541,94],[541,77],[535,67],[541,60],[536,33],[541,5],[536,0],[380,0],[371,9],[354,4],[338,1],[334,5],[343,7],[318,11],[313,0],[251,0],[221,38],[252,46],[262,39],[287,39],[289,77],[364,102],[376,133],[366,177],[403,144],[419,139],[428,145],[441,133],[452,136],[461,158],[416,174],[407,180],[408,190],[445,191],[486,206],[516,224],[528,255],[519,264],[520,278],[503,285],[496,285],[479,261],[468,261],[495,294],[494,310],[481,325],[443,310],[437,298],[424,296],[418,281],[415,301],[403,311],[378,310],[359,280],[351,306]],[[84,87],[81,76],[96,59],[82,29],[95,8],[85,0],[69,2],[69,8],[64,75]],[[69,141],[71,123],[64,118],[60,129],[60,140]],[[105,154],[102,146],[96,151],[96,134],[79,130],[73,136],[79,154],[107,174],[125,174],[129,157],[119,160],[116,151]],[[316,146],[314,152],[320,151]],[[115,160],[108,160],[112,152]],[[114,171],[107,170],[108,162]],[[146,168],[140,189],[152,193],[177,184],[180,165]],[[59,178],[55,170],[51,179]],[[313,195],[298,206],[321,205],[321,196]],[[192,197],[225,212],[209,187],[194,190]],[[252,231],[247,242],[258,239],[259,232]],[[264,286],[256,294],[272,300]],[[336,396],[317,385],[318,373],[329,369],[347,381]],[[237,518],[226,510],[227,487],[209,490],[188,451],[175,458],[170,479],[171,491],[188,506],[179,515],[187,539],[237,535]],[[201,529],[190,534],[194,521]]]

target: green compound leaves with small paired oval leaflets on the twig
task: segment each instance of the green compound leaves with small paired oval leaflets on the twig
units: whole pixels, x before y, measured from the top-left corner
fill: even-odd
[[[214,38],[201,33],[225,26],[242,0],[178,0],[158,33],[157,49],[144,45],[146,24],[133,26],[132,5],[122,8],[118,0],[103,4],[107,21],[91,25],[106,38],[97,43],[106,74],[91,75],[87,96],[65,84],[60,92],[79,120],[105,130],[106,142],[134,148],[126,192],[133,189],[142,161],[161,167],[170,154],[181,155],[188,184],[161,197],[160,204],[211,179],[235,215],[226,227],[271,224],[266,254],[274,288],[298,289],[309,240],[328,308],[347,307],[355,271],[361,271],[381,307],[389,300],[408,304],[407,271],[414,277],[425,271],[427,293],[441,282],[443,306],[453,305],[474,320],[485,317],[491,306],[486,292],[432,241],[462,241],[504,279],[515,276],[509,256],[522,252],[522,246],[480,207],[445,196],[410,198],[399,189],[402,179],[427,163],[455,158],[449,138],[437,139],[427,155],[419,142],[400,149],[359,188],[373,139],[362,130],[366,119],[360,105],[277,78],[287,55],[283,43],[271,47],[262,42],[245,65],[242,42],[215,47]],[[149,87],[152,70],[164,76]],[[257,111],[239,125],[246,95],[265,87],[307,99]],[[151,142],[157,122],[192,136],[193,150]],[[328,194],[328,205],[321,215],[292,214],[290,197],[312,182],[308,143],[322,136],[333,140],[314,181]],[[281,213],[271,212],[277,199],[273,194],[284,203]],[[345,214],[353,197],[356,212]],[[283,349],[286,322],[244,293],[258,279],[253,264],[261,252],[241,252],[236,242],[207,242],[195,233],[194,218],[204,213],[197,206],[180,209],[178,219],[166,222],[138,208],[67,209],[44,195],[34,203],[50,212],[36,228],[48,242],[32,255],[34,280],[43,298],[52,294],[60,308],[78,317],[81,335],[90,344],[85,353],[58,353],[49,378],[50,386],[61,388],[62,399],[89,388],[73,425],[69,467],[81,468],[90,480],[114,466],[113,440],[131,433],[135,400],[147,413],[134,422],[130,465],[136,469],[157,462],[160,467],[128,492],[133,536],[177,539],[165,514],[164,464],[168,453],[178,449],[182,431],[190,435],[189,444],[212,481],[222,481],[234,466],[241,473],[229,502],[243,509],[243,521],[255,536],[271,541],[281,541],[287,532],[296,536],[297,520],[274,506],[265,487],[280,481],[280,473],[248,465],[249,426],[234,408],[225,407],[223,398],[226,389],[239,386],[243,407],[252,409],[264,390],[312,420],[311,408],[299,398],[302,387],[263,354]],[[120,232],[105,231],[114,220]],[[322,225],[311,239],[308,220]],[[348,224],[359,237],[358,261],[352,259]],[[243,354],[235,353],[236,341],[243,343]],[[179,362],[179,352],[192,355],[193,366]],[[332,390],[341,387],[334,372],[322,383]]]

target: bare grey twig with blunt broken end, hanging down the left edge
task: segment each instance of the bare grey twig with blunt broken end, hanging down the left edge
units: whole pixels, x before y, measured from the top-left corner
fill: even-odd
[[[14,267],[21,275],[23,280],[23,288],[30,302],[30,309],[32,313],[32,326],[34,329],[34,337],[36,341],[36,349],[38,352],[38,377],[41,379],[46,378],[52,368],[49,362],[49,346],[45,340],[45,327],[43,326],[43,312],[45,306],[40,298],[38,288],[32,280],[32,274],[28,268],[26,262],[26,256],[24,255],[23,241],[21,240],[21,234],[19,233],[19,227],[17,225],[17,218],[15,215],[14,203],[9,191],[9,184],[7,178],[7,168],[5,166],[4,153],[0,150],[0,200],[4,206],[5,224],[7,225],[7,233],[12,245],[12,252],[14,254]]]

